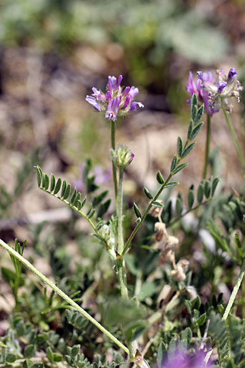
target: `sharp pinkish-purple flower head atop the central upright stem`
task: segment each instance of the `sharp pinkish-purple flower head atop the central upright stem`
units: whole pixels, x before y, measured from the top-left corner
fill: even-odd
[[[144,107],[141,102],[135,102],[134,98],[138,95],[138,88],[121,87],[123,76],[119,76],[117,81],[116,77],[108,77],[108,83],[106,86],[106,94],[98,91],[96,87],[93,87],[92,96],[87,96],[86,101],[94,106],[96,111],[106,111],[105,119],[115,121],[117,115],[131,115],[139,107]]]

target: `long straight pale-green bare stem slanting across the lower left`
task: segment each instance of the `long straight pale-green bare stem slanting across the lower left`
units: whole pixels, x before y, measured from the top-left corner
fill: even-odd
[[[4,243],[0,239],[0,245],[2,248],[6,249],[11,255],[22,262],[27,268],[29,268],[35,275],[37,275],[44,283],[50,286],[58,295],[60,295],[64,300],[67,301],[75,310],[81,313],[85,318],[87,318],[91,323],[93,323],[100,331],[102,331],[109,339],[111,339],[115,344],[117,344],[121,349],[123,349],[127,354],[129,350],[123,345],[117,338],[115,338],[109,331],[107,331],[100,323],[97,322],[91,315],[89,315],[83,308],[76,304],[68,295],[66,295],[61,289],[54,285],[47,277],[45,277],[40,271],[38,271],[31,263],[29,263],[24,257],[22,257],[18,252],[11,248],[8,244]]]

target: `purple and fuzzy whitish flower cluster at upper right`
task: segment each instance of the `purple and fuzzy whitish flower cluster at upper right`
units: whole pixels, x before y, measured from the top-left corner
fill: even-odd
[[[228,76],[223,69],[216,71],[216,78],[211,72],[197,72],[196,75],[198,79],[195,83],[190,72],[186,89],[191,96],[196,93],[198,99],[204,103],[206,112],[211,116],[220,109],[231,112],[233,105],[229,99],[235,97],[239,102],[239,91],[243,90],[239,80],[236,79],[235,68],[230,69]]]

